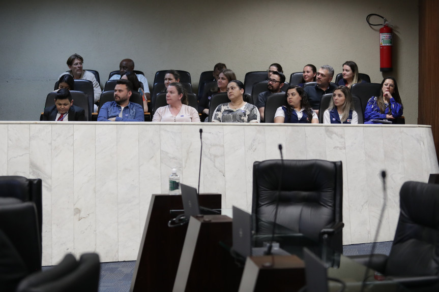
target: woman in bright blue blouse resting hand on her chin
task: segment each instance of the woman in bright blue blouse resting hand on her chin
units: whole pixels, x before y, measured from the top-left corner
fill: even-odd
[[[391,122],[402,116],[402,102],[395,78],[387,77],[381,82],[379,96],[372,96],[364,110],[365,124]]]

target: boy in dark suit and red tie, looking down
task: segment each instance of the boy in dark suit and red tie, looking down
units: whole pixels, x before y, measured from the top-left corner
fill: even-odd
[[[73,105],[69,89],[56,92],[55,105],[44,109],[43,121],[85,121],[83,108]]]

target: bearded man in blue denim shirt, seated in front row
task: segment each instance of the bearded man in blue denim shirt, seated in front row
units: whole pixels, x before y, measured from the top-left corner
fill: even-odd
[[[114,87],[114,102],[107,102],[99,111],[98,121],[143,122],[143,108],[130,102],[133,84],[129,80],[120,79]]]

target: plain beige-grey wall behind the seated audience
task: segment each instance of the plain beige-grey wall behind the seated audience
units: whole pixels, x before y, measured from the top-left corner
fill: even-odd
[[[199,74],[225,62],[241,80],[248,71],[279,62],[287,76],[304,64],[346,60],[381,82],[377,13],[395,24],[394,71],[407,123],[418,117],[418,2],[371,0],[312,2],[280,0],[119,2],[78,0],[8,2],[0,11],[1,120],[37,120],[45,97],[67,58],[78,53],[84,68],[98,70],[101,85],[123,58],[150,82],[158,70]],[[288,79],[288,78],[287,78]]]

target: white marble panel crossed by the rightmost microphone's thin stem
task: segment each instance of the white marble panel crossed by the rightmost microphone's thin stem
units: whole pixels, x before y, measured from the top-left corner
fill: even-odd
[[[379,139],[383,137],[382,127],[364,127],[364,149],[366,153],[366,175],[367,175],[367,192],[369,197],[369,221],[371,226],[370,241],[376,235],[376,229],[378,222],[381,221],[381,228],[377,235],[378,241],[390,241],[393,240],[393,233],[390,233],[389,229],[389,212],[387,205],[383,215],[381,210],[383,207],[384,193],[383,193],[383,180],[381,172],[386,170],[392,172],[392,169],[386,169],[384,154],[385,140]],[[381,218],[381,220],[380,220]]]

